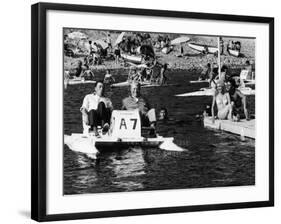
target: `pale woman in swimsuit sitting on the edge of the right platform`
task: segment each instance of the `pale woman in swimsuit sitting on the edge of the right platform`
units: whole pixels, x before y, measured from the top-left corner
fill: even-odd
[[[212,121],[215,122],[215,105],[217,106],[217,118],[220,120],[232,120],[232,105],[229,93],[225,91],[223,82],[218,82],[212,102]]]

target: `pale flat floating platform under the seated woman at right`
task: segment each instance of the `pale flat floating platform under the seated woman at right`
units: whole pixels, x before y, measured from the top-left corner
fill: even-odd
[[[240,136],[255,139],[255,121],[255,119],[249,121],[242,119],[239,122],[233,122],[229,120],[215,120],[215,123],[213,123],[212,117],[205,117],[204,127],[223,130]]]

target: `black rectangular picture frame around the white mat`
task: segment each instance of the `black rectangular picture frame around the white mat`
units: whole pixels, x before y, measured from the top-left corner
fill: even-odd
[[[37,3],[31,13],[31,76],[32,76],[32,155],[31,155],[31,218],[37,221],[74,220],[86,218],[148,215],[205,210],[274,206],[274,18],[240,15],[163,11],[151,9],[102,7],[89,5]],[[46,214],[46,12],[63,10],[87,13],[110,13],[155,17],[177,17],[217,21],[254,22],[269,25],[269,200],[196,206],[161,207],[70,214]]]

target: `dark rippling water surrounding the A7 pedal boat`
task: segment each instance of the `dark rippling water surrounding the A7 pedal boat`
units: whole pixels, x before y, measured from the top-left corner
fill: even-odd
[[[115,70],[117,81],[124,81],[127,71]],[[97,76],[102,77],[101,74]],[[159,110],[166,107],[170,120],[158,124],[160,135],[175,138],[184,152],[155,148],[128,148],[100,154],[98,163],[64,146],[64,193],[99,193],[179,188],[241,186],[255,184],[255,141],[241,141],[234,134],[205,129],[195,115],[202,113],[211,97],[175,97],[198,90],[206,84],[189,84],[197,79],[185,71],[170,71],[170,87],[144,88],[142,93]],[[82,132],[79,108],[91,84],[69,86],[64,91],[65,134]],[[120,109],[127,88],[107,90],[114,107]],[[247,98],[254,113],[255,97]]]

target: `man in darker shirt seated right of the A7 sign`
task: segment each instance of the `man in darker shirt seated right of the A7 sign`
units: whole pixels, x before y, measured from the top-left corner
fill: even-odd
[[[155,109],[150,108],[148,101],[141,96],[141,85],[132,82],[130,85],[130,96],[122,101],[122,110],[139,110],[142,127],[150,127],[150,137],[155,137],[156,115]]]

